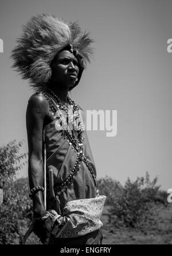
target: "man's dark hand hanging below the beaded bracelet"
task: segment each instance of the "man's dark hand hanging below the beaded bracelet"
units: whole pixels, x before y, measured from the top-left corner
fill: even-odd
[[[33,232],[40,238],[41,243],[48,244],[51,230],[52,221],[48,217],[46,220],[37,220]]]

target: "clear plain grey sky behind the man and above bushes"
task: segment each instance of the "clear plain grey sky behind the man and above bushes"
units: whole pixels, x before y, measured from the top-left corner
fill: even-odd
[[[170,0],[6,0],[0,6],[0,146],[25,140],[25,112],[32,95],[28,82],[11,69],[10,51],[34,14],[79,21],[91,32],[95,55],[72,97],[84,110],[117,110],[118,134],[89,131],[97,176],[124,183],[158,176],[172,187],[171,63],[166,50],[172,37]],[[19,176],[27,176],[25,168]]]

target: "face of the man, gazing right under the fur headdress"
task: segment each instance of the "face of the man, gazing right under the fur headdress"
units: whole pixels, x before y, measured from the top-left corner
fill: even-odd
[[[52,81],[70,88],[75,85],[79,74],[78,61],[68,50],[59,52],[52,63]]]

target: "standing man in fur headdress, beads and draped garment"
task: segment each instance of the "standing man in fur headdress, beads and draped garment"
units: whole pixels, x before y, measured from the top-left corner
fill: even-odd
[[[29,197],[33,231],[44,244],[102,240],[104,197],[97,195],[83,110],[68,97],[90,60],[91,43],[76,23],[43,14],[25,25],[12,54],[14,67],[36,89],[26,112]]]

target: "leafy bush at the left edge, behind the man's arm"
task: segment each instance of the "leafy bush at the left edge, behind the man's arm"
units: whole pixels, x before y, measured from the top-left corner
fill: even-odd
[[[31,208],[26,180],[16,180],[17,171],[26,163],[27,154],[19,153],[21,146],[22,142],[14,140],[0,148],[0,244],[13,244],[21,238],[22,227],[27,224],[24,217]]]

